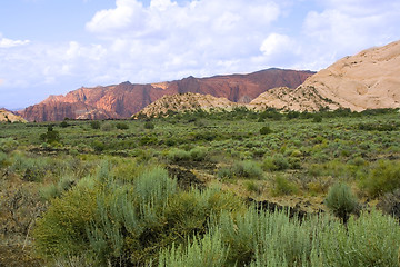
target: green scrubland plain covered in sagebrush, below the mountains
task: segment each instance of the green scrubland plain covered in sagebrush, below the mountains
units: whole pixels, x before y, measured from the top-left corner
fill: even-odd
[[[0,266],[399,266],[399,110],[0,123]]]

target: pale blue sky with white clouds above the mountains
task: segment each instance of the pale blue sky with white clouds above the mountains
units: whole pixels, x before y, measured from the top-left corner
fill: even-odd
[[[0,0],[0,107],[123,81],[314,70],[400,40],[399,0]]]

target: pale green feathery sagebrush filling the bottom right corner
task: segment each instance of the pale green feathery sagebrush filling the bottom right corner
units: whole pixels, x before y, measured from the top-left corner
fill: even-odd
[[[328,225],[329,224],[329,225]],[[361,212],[347,226],[327,221],[319,234],[320,261],[326,266],[398,266],[398,221],[380,211]]]

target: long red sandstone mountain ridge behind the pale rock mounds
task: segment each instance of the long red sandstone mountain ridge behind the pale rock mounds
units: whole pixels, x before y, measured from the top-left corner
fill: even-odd
[[[50,96],[19,113],[29,121],[129,118],[164,95],[184,92],[211,95],[247,103],[271,88],[296,88],[311,75],[312,71],[268,69],[250,75],[188,77],[149,85],[122,82],[108,87],[82,87],[66,96]]]

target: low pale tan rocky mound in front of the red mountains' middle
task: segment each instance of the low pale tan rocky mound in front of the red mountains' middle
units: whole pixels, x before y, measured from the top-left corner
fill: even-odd
[[[211,95],[200,95],[194,92],[167,95],[157,101],[148,105],[138,113],[133,115],[134,118],[159,117],[160,115],[168,115],[169,112],[184,112],[184,111],[231,111],[233,108],[241,106],[229,101],[226,98],[217,98]]]

